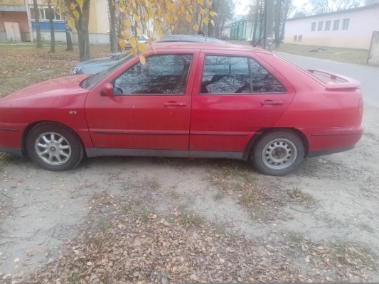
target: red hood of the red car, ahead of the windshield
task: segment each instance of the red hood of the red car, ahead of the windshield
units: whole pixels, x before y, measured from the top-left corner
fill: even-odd
[[[30,87],[20,89],[13,94],[0,99],[0,104],[16,102],[20,99],[41,99],[46,97],[60,97],[73,93],[87,93],[87,89],[80,87],[80,82],[88,77],[85,75],[61,77],[33,84]]]

